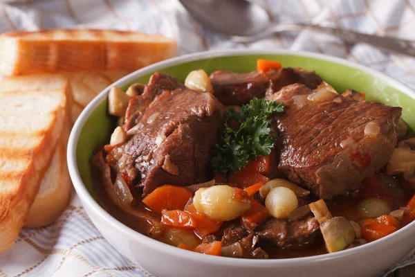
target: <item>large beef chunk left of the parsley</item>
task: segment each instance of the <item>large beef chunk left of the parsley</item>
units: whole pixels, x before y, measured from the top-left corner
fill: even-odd
[[[222,105],[210,93],[183,87],[151,90],[151,82],[136,98],[130,102],[136,111],[131,107],[127,111],[136,123],[128,129],[132,134],[107,156],[113,170],[132,186],[142,187],[143,195],[164,184],[188,186],[199,181],[219,139]],[[137,105],[140,101],[142,105]]]

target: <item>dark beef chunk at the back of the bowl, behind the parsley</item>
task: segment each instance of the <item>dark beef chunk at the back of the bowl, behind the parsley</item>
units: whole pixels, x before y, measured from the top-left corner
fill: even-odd
[[[210,80],[214,96],[223,105],[247,104],[252,98],[264,98],[288,84],[300,83],[315,89],[322,82],[313,72],[289,67],[250,73],[215,71]]]

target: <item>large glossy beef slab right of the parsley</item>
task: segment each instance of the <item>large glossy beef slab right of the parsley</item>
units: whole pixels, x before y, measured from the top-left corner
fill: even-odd
[[[302,84],[292,84],[269,97],[286,105],[274,122],[281,148],[279,170],[329,199],[359,188],[362,179],[385,166],[396,145],[402,109],[340,95],[307,100],[311,93]]]

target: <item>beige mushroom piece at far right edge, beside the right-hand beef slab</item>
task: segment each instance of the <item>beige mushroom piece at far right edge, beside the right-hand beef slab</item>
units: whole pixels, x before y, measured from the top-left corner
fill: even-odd
[[[387,175],[398,175],[415,183],[415,138],[400,141],[398,148],[394,149],[386,166]]]

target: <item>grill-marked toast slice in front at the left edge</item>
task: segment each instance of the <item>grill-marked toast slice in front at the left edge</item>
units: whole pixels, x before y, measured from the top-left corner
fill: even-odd
[[[33,82],[0,82],[0,252],[24,226],[66,118],[67,79],[47,75]]]

